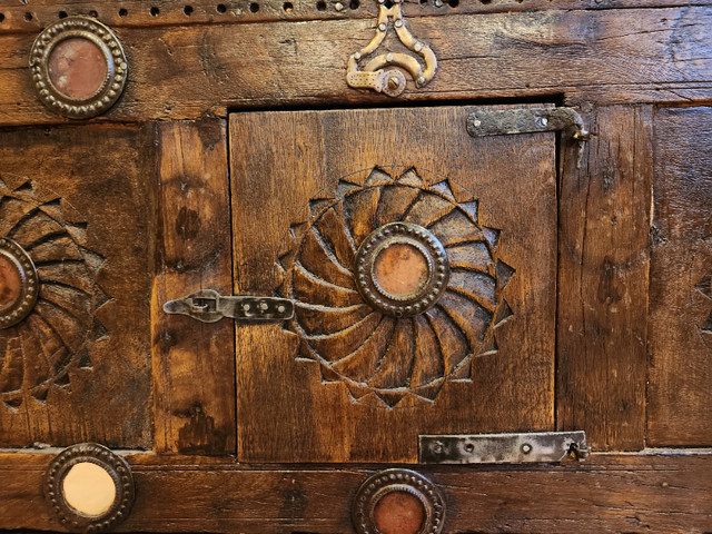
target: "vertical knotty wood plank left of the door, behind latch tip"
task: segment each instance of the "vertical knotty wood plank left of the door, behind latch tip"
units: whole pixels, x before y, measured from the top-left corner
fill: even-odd
[[[227,138],[221,120],[162,122],[158,145],[158,268],[154,283],[155,449],[235,453],[230,322],[167,316],[166,300],[231,293]]]

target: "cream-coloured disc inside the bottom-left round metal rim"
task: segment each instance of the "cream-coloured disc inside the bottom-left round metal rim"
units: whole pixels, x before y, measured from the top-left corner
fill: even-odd
[[[103,467],[91,462],[73,465],[62,481],[65,501],[83,515],[99,516],[116,500],[116,485]]]

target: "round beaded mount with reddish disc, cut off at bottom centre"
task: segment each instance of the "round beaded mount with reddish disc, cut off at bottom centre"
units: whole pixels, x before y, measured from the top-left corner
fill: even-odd
[[[385,469],[369,476],[352,505],[352,521],[358,534],[438,534],[444,520],[445,501],[437,486],[411,469]]]

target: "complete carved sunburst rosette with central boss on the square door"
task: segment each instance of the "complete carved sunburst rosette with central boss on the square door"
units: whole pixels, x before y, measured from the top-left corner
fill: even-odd
[[[447,380],[469,380],[473,358],[497,352],[514,269],[469,192],[376,168],[342,179],[309,215],[290,228],[280,290],[296,305],[286,328],[297,357],[318,362],[324,382],[388,407],[432,402]]]

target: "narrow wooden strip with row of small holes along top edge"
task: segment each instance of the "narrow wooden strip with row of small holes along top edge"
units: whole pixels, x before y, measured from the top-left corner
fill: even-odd
[[[340,7],[338,6],[340,3]],[[708,6],[709,0],[690,0],[686,6]],[[680,0],[448,0],[437,2],[405,0],[406,17],[428,17],[471,13],[511,13],[538,10],[607,10],[631,8],[679,7]],[[241,0],[241,1],[176,1],[145,0],[87,1],[29,0],[18,4],[0,2],[0,34],[38,32],[63,17],[96,17],[113,28],[187,26],[202,23],[250,23],[275,20],[313,21],[346,18],[370,18],[378,12],[378,4],[370,0]]]

